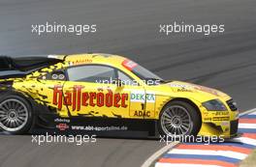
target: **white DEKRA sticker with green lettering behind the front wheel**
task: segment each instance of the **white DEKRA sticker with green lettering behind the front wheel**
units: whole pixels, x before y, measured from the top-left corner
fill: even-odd
[[[154,93],[144,93],[144,91],[133,91],[131,92],[131,101],[132,102],[155,102]]]

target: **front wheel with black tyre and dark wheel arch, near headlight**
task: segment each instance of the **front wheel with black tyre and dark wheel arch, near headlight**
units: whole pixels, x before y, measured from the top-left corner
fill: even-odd
[[[180,137],[197,135],[201,117],[196,108],[184,101],[168,103],[160,113],[158,128],[161,135]]]

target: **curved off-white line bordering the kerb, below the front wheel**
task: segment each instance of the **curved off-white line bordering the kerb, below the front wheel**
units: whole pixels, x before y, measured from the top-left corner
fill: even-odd
[[[144,164],[142,165],[142,167],[150,166],[158,157],[160,157],[163,153],[168,152],[170,149],[174,148],[178,143],[179,142],[173,142],[169,145],[166,145],[165,147],[163,147],[162,149],[160,149],[156,153],[153,153],[150,157],[148,157],[148,159],[146,159],[144,161]]]

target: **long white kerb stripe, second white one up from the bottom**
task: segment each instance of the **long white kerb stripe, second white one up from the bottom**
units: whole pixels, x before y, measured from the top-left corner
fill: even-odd
[[[245,153],[237,153],[232,151],[210,151],[210,150],[190,150],[190,149],[173,149],[170,154],[197,154],[197,155],[219,155],[236,159],[244,159],[247,157]]]

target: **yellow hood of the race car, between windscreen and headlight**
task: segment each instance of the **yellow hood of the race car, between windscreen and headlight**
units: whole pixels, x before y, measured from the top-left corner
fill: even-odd
[[[187,82],[172,81],[163,84],[163,86],[169,87],[169,89],[171,88],[172,92],[174,92],[178,96],[194,97],[199,99],[200,101],[213,98],[220,98],[222,100],[228,100],[231,98],[218,90]]]

